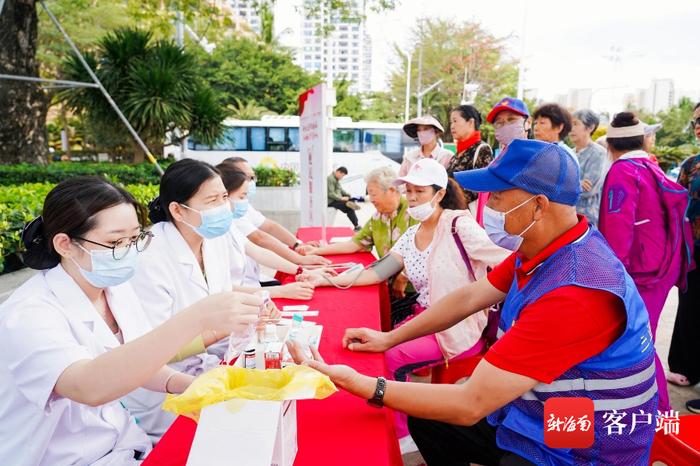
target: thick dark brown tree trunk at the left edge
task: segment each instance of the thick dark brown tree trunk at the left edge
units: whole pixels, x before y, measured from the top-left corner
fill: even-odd
[[[38,18],[34,0],[5,0],[0,11],[0,73],[38,76]],[[40,85],[0,81],[0,163],[40,162],[48,156],[48,97]]]

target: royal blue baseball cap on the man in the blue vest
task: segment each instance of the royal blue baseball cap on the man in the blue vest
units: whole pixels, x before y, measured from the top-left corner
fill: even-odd
[[[571,154],[557,144],[530,139],[515,139],[488,167],[454,177],[470,191],[520,188],[558,204],[576,205],[581,194],[579,168]]]

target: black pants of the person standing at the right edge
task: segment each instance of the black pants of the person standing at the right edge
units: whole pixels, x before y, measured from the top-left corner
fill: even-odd
[[[697,268],[688,274],[688,288],[678,292],[678,313],[673,326],[668,367],[686,376],[691,385],[700,382],[700,248],[695,248]]]

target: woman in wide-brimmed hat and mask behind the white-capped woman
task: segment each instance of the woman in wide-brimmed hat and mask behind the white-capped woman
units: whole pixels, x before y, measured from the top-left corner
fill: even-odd
[[[408,137],[417,140],[420,147],[404,155],[399,176],[406,176],[413,164],[420,159],[435,159],[445,167],[450,162],[452,152],[438,144],[438,139],[445,130],[434,116],[423,115],[407,121],[403,125],[403,132]]]

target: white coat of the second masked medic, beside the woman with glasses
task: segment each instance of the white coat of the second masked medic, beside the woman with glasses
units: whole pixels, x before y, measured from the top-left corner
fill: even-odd
[[[151,245],[141,253],[141,264],[130,280],[151,326],[156,327],[188,306],[223,291],[231,291],[229,238],[205,239],[202,246],[206,280],[197,258],[171,222],[151,228]],[[208,348],[207,353],[171,364],[175,370],[199,375],[215,367],[226,351],[227,342]],[[209,354],[214,353],[214,354]],[[165,395],[138,389],[124,399],[139,425],[157,441],[170,427],[174,415],[161,409]]]

